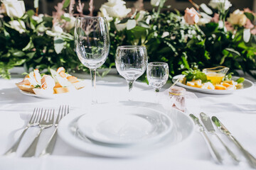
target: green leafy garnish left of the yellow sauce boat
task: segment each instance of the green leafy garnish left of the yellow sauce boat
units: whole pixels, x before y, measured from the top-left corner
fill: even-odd
[[[186,81],[192,81],[193,79],[201,79],[202,83],[210,81],[200,69],[188,69],[187,71],[183,71],[182,74],[185,75]]]

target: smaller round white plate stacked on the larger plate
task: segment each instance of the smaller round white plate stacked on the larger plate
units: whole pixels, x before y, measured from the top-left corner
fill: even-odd
[[[171,131],[171,119],[159,111],[132,106],[95,107],[78,120],[83,135],[113,145],[146,144],[161,140]]]

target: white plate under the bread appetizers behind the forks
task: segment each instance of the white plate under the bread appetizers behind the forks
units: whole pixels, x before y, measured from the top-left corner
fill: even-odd
[[[82,89],[83,89],[83,88],[82,88]],[[62,97],[65,97],[65,96],[77,94],[77,93],[79,93],[82,89],[75,90],[75,91],[70,91],[70,92],[64,93],[64,94],[46,94],[46,95],[33,94],[33,93],[31,93],[31,92],[23,91],[23,90],[19,90],[19,91],[21,92],[21,94],[24,94],[24,95],[26,95],[26,96],[33,96],[33,97],[36,97],[36,98],[53,99],[53,98],[62,98]]]

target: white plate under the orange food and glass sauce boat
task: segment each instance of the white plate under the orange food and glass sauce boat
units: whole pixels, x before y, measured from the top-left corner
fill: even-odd
[[[175,76],[172,81],[175,82],[178,77],[181,77],[182,75],[179,74]],[[233,80],[237,80],[239,77],[232,77]],[[181,86],[183,88],[189,89],[191,91],[196,91],[196,92],[201,92],[204,94],[233,94],[235,91],[242,91],[244,89],[249,89],[250,87],[253,86],[252,81],[245,79],[245,81],[242,82],[243,84],[243,89],[236,89],[236,90],[211,90],[211,89],[201,89],[193,86],[187,86],[186,84],[182,84],[178,82],[176,85]]]

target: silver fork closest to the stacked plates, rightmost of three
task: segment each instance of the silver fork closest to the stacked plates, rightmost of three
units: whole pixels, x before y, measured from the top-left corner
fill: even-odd
[[[55,121],[55,130],[53,132],[53,135],[50,137],[50,140],[48,144],[46,145],[46,148],[43,149],[39,157],[46,156],[53,153],[53,149],[57,140],[57,134],[58,134],[58,123],[60,120],[69,113],[69,106],[60,106],[58,111],[58,116]]]

